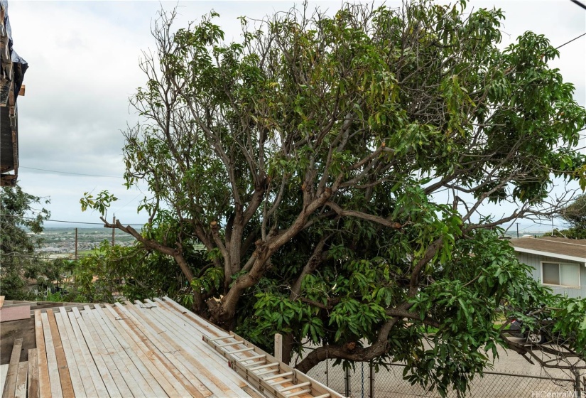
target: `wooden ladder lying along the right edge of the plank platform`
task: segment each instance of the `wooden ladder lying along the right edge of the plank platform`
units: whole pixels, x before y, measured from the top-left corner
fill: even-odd
[[[203,340],[228,360],[229,367],[239,373],[267,397],[342,398],[303,372],[293,369],[235,333]]]

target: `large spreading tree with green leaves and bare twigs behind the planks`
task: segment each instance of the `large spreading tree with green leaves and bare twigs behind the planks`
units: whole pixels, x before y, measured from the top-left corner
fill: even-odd
[[[293,9],[240,18],[233,43],[213,11],[179,29],[161,12],[124,146],[150,219],[105,225],[172,257],[219,326],[262,345],[283,333],[286,360],[311,340],[300,370],[391,357],[465,390],[506,344],[501,303],[547,294],[498,226],[555,213],[553,178],[586,184],[586,110],[545,37],[501,50],[501,11],[464,9]],[[479,216],[489,202],[514,206]]]

